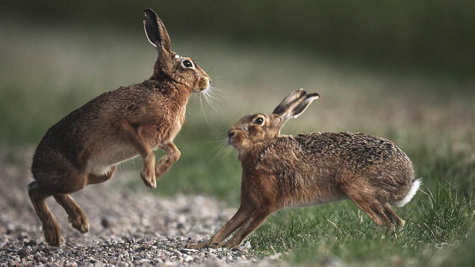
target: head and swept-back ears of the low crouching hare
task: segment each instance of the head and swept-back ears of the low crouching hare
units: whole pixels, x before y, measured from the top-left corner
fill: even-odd
[[[285,96],[272,113],[244,116],[237,124],[229,128],[228,144],[236,147],[238,151],[245,151],[255,143],[276,138],[285,122],[304,113],[305,109],[318,97],[316,93],[307,95],[307,92],[301,88]]]

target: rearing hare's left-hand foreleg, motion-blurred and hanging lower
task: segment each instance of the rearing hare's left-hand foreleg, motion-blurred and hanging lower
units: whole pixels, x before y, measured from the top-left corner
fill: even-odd
[[[152,153],[152,149],[143,139],[140,127],[133,127],[127,120],[123,119],[119,123],[121,134],[123,138],[131,142],[133,146],[138,150],[143,159],[142,171],[140,176],[146,186],[156,188],[157,183],[155,181],[155,154]]]

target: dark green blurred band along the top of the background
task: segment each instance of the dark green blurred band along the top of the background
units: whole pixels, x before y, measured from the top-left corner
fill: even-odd
[[[100,34],[113,29],[136,33],[140,11],[151,7],[175,37],[229,40],[240,46],[264,42],[342,61],[417,66],[454,75],[470,75],[475,69],[471,0],[2,2],[2,18],[17,23],[76,26]]]

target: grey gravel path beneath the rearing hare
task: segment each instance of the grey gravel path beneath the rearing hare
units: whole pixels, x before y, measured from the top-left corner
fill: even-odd
[[[111,181],[87,186],[73,198],[89,218],[82,235],[52,199],[48,206],[64,245],[46,244],[27,195],[32,149],[0,152],[0,266],[276,266],[278,255],[258,258],[252,247],[186,249],[217,231],[235,209],[203,196],[158,197],[143,187],[137,171],[119,170]],[[136,173],[137,172],[137,173]]]

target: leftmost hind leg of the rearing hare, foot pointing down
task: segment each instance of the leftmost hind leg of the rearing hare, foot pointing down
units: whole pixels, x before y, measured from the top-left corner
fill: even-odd
[[[43,224],[46,241],[52,246],[59,247],[61,245],[61,231],[55,216],[46,204],[46,198],[51,194],[45,191],[38,181],[34,181],[28,185],[28,195],[36,215]]]

